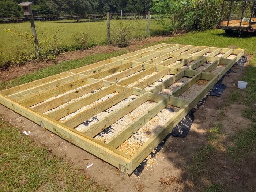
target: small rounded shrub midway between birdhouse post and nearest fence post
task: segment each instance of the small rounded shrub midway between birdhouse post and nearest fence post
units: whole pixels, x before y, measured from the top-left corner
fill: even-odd
[[[89,34],[82,32],[76,33],[73,37],[75,46],[77,49],[88,49],[94,45],[94,38],[90,37]]]

